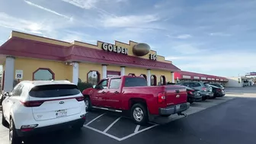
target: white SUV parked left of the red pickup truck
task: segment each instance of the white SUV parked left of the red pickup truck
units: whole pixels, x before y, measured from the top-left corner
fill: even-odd
[[[84,97],[69,81],[23,81],[5,97],[2,124],[9,126],[10,143],[63,126],[80,129],[85,123]]]

